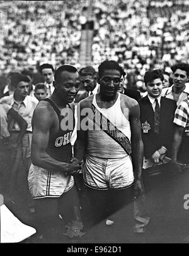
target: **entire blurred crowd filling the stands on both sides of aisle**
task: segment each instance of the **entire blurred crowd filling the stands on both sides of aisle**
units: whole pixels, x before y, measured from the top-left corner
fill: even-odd
[[[0,86],[9,71],[81,66],[81,31],[92,20],[91,64],[105,59],[127,71],[125,85],[143,92],[146,70],[188,62],[188,0],[0,1]],[[89,12],[90,11],[90,12]],[[90,14],[90,15],[89,15]],[[38,81],[37,81],[38,82]],[[35,83],[35,79],[34,79]]]

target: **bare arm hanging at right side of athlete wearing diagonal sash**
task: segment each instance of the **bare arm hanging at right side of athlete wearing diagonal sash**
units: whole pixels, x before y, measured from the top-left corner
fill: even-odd
[[[139,104],[135,104],[130,109],[129,121],[131,129],[132,160],[135,178],[135,197],[137,197],[139,192],[144,192],[142,185],[142,162],[144,157],[144,146],[141,137]]]

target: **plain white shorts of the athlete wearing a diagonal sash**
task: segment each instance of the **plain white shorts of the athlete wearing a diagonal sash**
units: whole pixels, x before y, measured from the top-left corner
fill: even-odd
[[[121,189],[134,183],[129,155],[118,159],[104,159],[87,155],[83,169],[84,183],[96,189]]]

